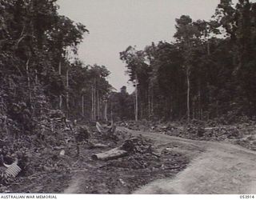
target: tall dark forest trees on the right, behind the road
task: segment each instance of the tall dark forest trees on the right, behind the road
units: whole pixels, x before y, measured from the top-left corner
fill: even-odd
[[[256,3],[221,0],[210,21],[176,18],[175,42],[120,53],[138,75],[140,118],[253,118]]]

